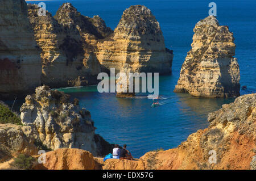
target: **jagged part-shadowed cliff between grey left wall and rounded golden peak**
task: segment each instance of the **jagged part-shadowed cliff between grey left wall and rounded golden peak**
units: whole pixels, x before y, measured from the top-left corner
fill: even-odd
[[[42,48],[42,83],[51,87],[96,84],[101,67],[92,42],[111,32],[104,21],[81,15],[71,3],[64,3],[54,18],[48,11],[38,16],[38,10],[37,5],[28,5],[35,40]]]

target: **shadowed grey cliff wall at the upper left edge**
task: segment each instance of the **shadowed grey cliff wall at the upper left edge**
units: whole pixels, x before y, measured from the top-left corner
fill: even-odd
[[[0,96],[10,98],[40,85],[40,49],[24,0],[0,2]]]

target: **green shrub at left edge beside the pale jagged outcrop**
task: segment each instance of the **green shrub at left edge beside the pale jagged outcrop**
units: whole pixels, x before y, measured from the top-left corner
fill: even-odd
[[[21,120],[7,106],[0,104],[0,123],[22,125]]]

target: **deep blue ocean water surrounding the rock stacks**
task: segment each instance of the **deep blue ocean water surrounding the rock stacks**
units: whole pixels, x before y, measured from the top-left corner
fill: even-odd
[[[160,23],[166,47],[174,50],[172,75],[159,78],[159,107],[151,107],[146,96],[125,99],[114,94],[100,94],[96,86],[61,89],[80,99],[80,106],[87,108],[97,127],[96,133],[105,140],[119,145],[127,144],[134,157],[155,149],[175,148],[189,134],[208,127],[208,113],[221,108],[230,99],[195,98],[188,94],[174,93],[180,68],[191,49],[193,28],[200,19],[208,16],[212,1],[122,1],[122,0],[69,0],[42,1],[55,15],[64,2],[71,2],[82,15],[99,15],[114,30],[122,12],[131,5],[144,5],[151,9]],[[234,33],[236,56],[240,65],[241,95],[256,92],[256,1],[214,1],[217,19]],[[28,2],[39,3],[39,1]]]

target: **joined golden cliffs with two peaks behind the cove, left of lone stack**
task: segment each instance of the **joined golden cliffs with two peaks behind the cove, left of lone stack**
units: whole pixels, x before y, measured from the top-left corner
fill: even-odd
[[[144,6],[123,12],[114,32],[99,16],[81,15],[64,3],[55,16],[38,16],[39,7],[28,5],[35,39],[42,48],[42,83],[51,87],[97,83],[97,74],[124,64],[132,71],[170,73],[172,51],[166,49],[159,23]]]

